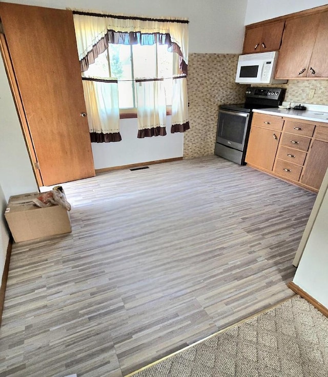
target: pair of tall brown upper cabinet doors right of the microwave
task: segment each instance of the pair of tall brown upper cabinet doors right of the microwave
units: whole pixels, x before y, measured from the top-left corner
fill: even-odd
[[[276,78],[328,77],[328,12],[286,20]]]

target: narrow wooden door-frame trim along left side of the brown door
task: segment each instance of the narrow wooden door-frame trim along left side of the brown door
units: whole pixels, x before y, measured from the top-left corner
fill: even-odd
[[[0,34],[0,52],[1,52],[1,55],[3,56],[6,73],[7,73],[9,85],[11,88],[11,93],[12,93],[14,103],[16,106],[16,111],[17,111],[19,122],[20,122],[20,127],[22,128],[22,133],[23,133],[26,148],[29,154],[35,180],[39,187],[44,186],[40,170],[36,168],[37,157],[36,157],[32,137],[30,134],[29,125],[26,119],[23,101],[22,101],[22,98],[20,97],[20,92],[19,92],[17,81],[16,81],[16,76],[13,70],[7,41],[3,34]]]

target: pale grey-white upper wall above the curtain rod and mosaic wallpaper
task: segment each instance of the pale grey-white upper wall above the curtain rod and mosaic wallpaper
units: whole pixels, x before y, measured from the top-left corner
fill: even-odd
[[[247,7],[247,0],[10,0],[8,3],[189,18],[189,52],[226,54],[242,50]]]

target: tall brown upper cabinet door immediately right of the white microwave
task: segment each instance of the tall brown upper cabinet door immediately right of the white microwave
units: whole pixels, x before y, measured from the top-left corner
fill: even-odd
[[[306,77],[320,23],[320,14],[286,21],[276,78]]]

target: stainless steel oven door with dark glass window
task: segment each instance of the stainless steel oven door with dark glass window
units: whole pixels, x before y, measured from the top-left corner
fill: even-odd
[[[216,142],[243,151],[249,117],[249,113],[237,113],[220,109]]]

